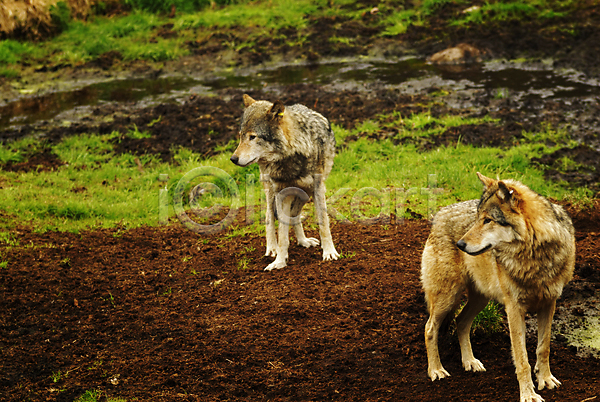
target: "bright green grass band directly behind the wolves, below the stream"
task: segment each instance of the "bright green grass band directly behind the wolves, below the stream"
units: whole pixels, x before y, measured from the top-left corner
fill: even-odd
[[[531,163],[561,147],[572,147],[565,130],[550,125],[531,133],[507,149],[474,148],[459,143],[423,151],[410,141],[395,145],[394,140],[434,137],[449,127],[466,124],[496,124],[488,117],[443,115],[433,118],[428,112],[402,117],[399,114],[378,116],[364,121],[351,130],[333,126],[338,150],[334,169],[327,181],[328,206],[335,208],[340,218],[350,221],[396,213],[398,217],[418,213],[430,216],[435,210],[454,202],[478,198],[481,184],[475,172],[500,178],[522,181],[533,190],[554,199],[585,202],[592,197],[585,188],[544,179],[542,167]],[[367,137],[389,130],[396,136],[385,140]],[[147,137],[132,127],[127,134]],[[80,231],[97,228],[131,228],[158,225],[175,219],[173,196],[181,181],[182,210],[208,208],[215,215],[194,218],[202,224],[219,222],[227,213],[232,200],[236,205],[253,206],[247,221],[254,225],[230,227],[229,235],[259,231],[264,211],[264,193],[257,165],[247,168],[234,166],[230,161],[231,147],[204,159],[186,148],[175,150],[174,163],[167,164],[152,155],[115,154],[114,143],[120,134],[82,134],[64,138],[51,151],[65,164],[54,171],[16,173],[0,170],[3,202],[0,204],[0,234],[10,233],[17,222],[30,225],[37,231]],[[356,138],[349,141],[349,138]],[[0,146],[0,160],[26,160],[34,149],[44,145],[23,139]],[[573,162],[562,162],[573,169]],[[209,167],[208,173],[197,174],[199,166]],[[575,166],[576,168],[576,166]],[[219,173],[218,178],[212,172]],[[432,176],[433,175],[433,176]],[[182,181],[185,178],[185,182]],[[435,178],[432,192],[430,180]],[[196,185],[212,183],[198,205],[189,205],[189,191]],[[165,191],[166,189],[166,191]],[[162,193],[161,193],[162,191]],[[232,198],[237,194],[237,198]],[[219,206],[221,205],[221,206]],[[234,205],[235,206],[235,205]],[[310,208],[309,208],[310,209]],[[310,215],[310,211],[309,211]],[[190,215],[193,217],[193,215]],[[202,220],[204,219],[204,221]],[[238,233],[238,234],[236,234]],[[10,236],[0,236],[6,245]]]

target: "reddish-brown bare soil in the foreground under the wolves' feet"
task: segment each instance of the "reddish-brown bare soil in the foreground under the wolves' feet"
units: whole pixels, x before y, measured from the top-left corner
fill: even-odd
[[[476,374],[463,371],[447,334],[452,377],[427,378],[419,266],[428,233],[418,220],[337,224],[343,258],[322,262],[320,250],[292,246],[289,266],[266,273],[271,258],[255,235],[198,236],[179,223],[19,229],[20,247],[0,250],[2,399],[72,401],[101,390],[152,401],[516,400],[506,333],[473,337],[487,367]],[[571,297],[600,291],[600,233],[578,229],[577,241]],[[528,350],[533,359],[534,339]],[[600,361],[559,341],[551,361],[563,386],[542,391],[547,401],[600,394]]]

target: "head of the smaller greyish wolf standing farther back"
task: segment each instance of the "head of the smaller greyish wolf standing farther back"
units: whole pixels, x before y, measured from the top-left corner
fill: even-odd
[[[256,101],[246,94],[244,105],[246,109],[240,124],[240,144],[231,161],[238,166],[248,166],[259,160],[277,158],[285,141],[281,129],[285,106],[279,100],[275,103]]]

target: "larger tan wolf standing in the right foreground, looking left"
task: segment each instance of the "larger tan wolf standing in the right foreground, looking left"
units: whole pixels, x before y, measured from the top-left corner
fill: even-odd
[[[495,299],[506,308],[521,402],[541,402],[525,349],[525,313],[538,313],[538,388],[555,388],[560,382],[550,372],[550,329],[556,299],[573,275],[573,224],[562,207],[523,184],[477,175],[485,186],[481,199],[440,210],[423,251],[428,374],[432,380],[450,375],[440,362],[438,332],[466,289],[468,302],[456,319],[463,367],[485,370],[473,356],[469,333],[477,313]]]

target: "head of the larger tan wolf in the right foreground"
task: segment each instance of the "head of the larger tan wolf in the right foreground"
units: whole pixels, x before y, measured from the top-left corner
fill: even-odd
[[[477,220],[456,243],[471,255],[523,239],[528,225],[522,204],[526,193],[531,192],[514,180],[494,180],[479,172],[477,176],[485,186],[477,207]]]

